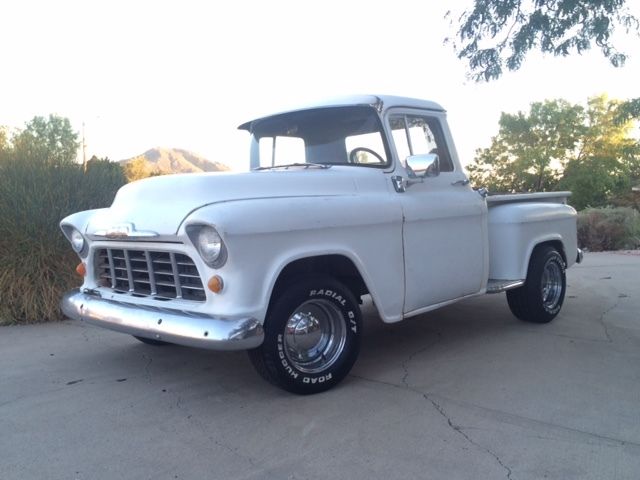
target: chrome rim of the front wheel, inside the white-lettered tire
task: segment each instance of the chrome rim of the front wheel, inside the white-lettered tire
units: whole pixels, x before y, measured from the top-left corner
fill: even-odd
[[[338,359],[347,338],[344,315],[332,302],[314,299],[297,307],[284,330],[284,351],[295,368],[318,373]]]

